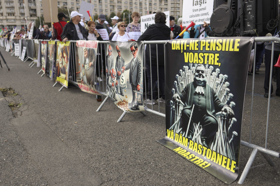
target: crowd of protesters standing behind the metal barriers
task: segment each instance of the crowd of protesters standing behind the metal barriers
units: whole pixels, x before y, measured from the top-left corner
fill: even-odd
[[[170,40],[178,38],[199,38],[203,39],[208,36],[213,36],[211,26],[209,23],[205,22],[203,24],[198,24],[190,27],[187,32],[184,32],[180,37],[179,34],[186,28],[182,26],[182,18],[179,18],[177,24],[175,24],[175,17],[170,16],[169,27],[166,26],[166,15],[161,10],[156,10],[155,12],[155,24],[151,24],[146,31],[138,38],[139,41],[158,41],[158,40]],[[125,24],[121,18],[114,16],[111,19],[111,25],[106,21],[104,14],[99,14],[97,20],[86,22],[85,19],[82,19],[82,14],[79,14],[77,11],[72,11],[70,14],[70,21],[66,22],[67,16],[64,13],[58,13],[58,22],[53,24],[52,28],[49,28],[48,25],[44,27],[35,27],[33,28],[32,38],[33,39],[50,39],[50,40],[98,40],[104,41],[105,39],[101,37],[96,29],[105,29],[108,33],[109,40],[126,42],[126,41],[135,41],[132,36],[129,34],[131,32],[140,32],[141,24],[138,23],[140,19],[140,14],[138,12],[133,12],[132,22]],[[28,28],[18,29],[14,35],[15,39],[28,38],[32,22],[28,24]],[[10,39],[11,31],[6,30],[2,33],[3,38]],[[264,97],[268,97],[269,92],[269,72],[270,72],[270,62],[271,62],[271,43],[257,43],[257,47],[252,48],[251,58],[249,63],[248,75],[253,74],[253,58],[254,52],[256,52],[256,65],[255,65],[255,74],[259,74],[259,69],[262,61],[265,61],[265,81],[264,81]],[[150,49],[151,47],[151,49]],[[163,50],[162,45],[158,45],[158,50]],[[105,68],[105,45],[100,46],[99,52],[97,55],[100,55],[97,59],[99,62],[96,63],[97,79],[102,81],[101,72],[102,69],[99,67],[99,64],[103,63]],[[151,51],[151,60],[150,60],[150,51]],[[165,102],[164,95],[164,86],[165,86],[165,72],[164,72],[164,56],[156,56],[156,44],[147,45],[146,47],[146,71],[148,83],[148,99],[145,100],[147,104],[155,104],[155,100],[159,102]],[[274,47],[274,56],[273,63],[275,64],[278,56],[280,55],[280,45],[275,43]],[[101,60],[103,59],[103,60]],[[157,82],[157,59],[158,59],[158,73],[159,73],[159,82]],[[101,65],[100,65],[101,66]],[[103,69],[105,72],[105,69]],[[152,74],[152,78],[151,78]],[[278,80],[278,81],[277,81]],[[273,81],[277,82],[276,95],[280,96],[280,70],[273,67]],[[156,83],[158,88],[162,93],[160,98],[157,97]],[[153,87],[153,90],[152,90]],[[271,86],[271,93],[273,92],[273,86]],[[153,95],[151,95],[153,92]]]

